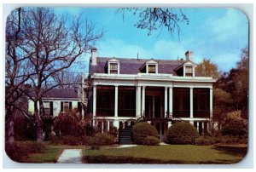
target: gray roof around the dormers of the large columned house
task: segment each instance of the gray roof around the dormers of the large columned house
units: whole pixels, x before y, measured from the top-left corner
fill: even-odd
[[[89,69],[90,75],[93,73],[105,73],[105,66],[108,60],[113,59],[109,57],[97,57],[97,65],[91,66]],[[148,60],[151,59],[127,59],[127,58],[116,58],[120,64],[120,74],[137,74],[140,72],[140,67],[143,66]],[[158,62],[158,72],[172,74],[177,76],[175,69],[178,66],[183,65],[187,60],[155,60]],[[195,76],[201,76],[195,72]]]

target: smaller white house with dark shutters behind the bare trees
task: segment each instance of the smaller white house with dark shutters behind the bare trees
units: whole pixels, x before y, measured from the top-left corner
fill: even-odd
[[[76,89],[50,89],[43,96],[44,112],[46,116],[56,117],[60,112],[77,109],[82,114],[82,103]],[[34,103],[29,100],[28,111],[34,112]]]

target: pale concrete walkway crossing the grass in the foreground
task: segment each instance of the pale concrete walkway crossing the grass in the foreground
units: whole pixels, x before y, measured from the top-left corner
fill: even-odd
[[[64,149],[57,163],[83,163],[82,149]]]

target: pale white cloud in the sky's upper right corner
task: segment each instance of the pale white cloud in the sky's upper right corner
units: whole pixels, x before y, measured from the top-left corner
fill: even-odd
[[[247,29],[246,15],[239,9],[227,9],[224,16],[217,20],[208,20],[207,28],[213,33],[213,36],[224,41],[230,37],[241,35],[244,29]],[[242,30],[242,31],[241,31]]]

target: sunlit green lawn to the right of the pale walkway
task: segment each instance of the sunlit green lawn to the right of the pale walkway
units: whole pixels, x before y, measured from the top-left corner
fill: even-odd
[[[238,163],[247,146],[136,146],[84,149],[86,163]]]

